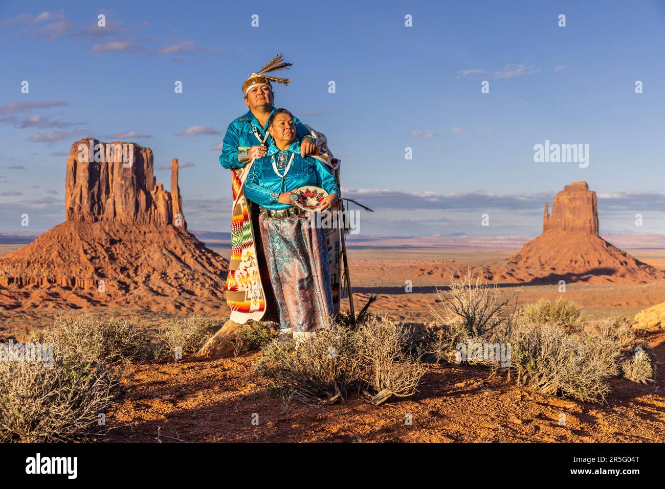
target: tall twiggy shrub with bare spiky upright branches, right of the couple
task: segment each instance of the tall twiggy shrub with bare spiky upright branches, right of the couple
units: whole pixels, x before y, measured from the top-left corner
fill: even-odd
[[[440,324],[460,324],[468,336],[475,337],[511,330],[517,295],[499,294],[496,283],[479,275],[473,277],[470,270],[459,279],[451,277],[450,282],[449,290],[436,291],[440,302],[432,308],[432,314]]]

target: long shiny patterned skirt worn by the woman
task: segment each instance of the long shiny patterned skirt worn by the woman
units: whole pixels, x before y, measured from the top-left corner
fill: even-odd
[[[261,241],[281,328],[313,332],[330,325],[334,306],[326,231],[315,219],[259,215]]]

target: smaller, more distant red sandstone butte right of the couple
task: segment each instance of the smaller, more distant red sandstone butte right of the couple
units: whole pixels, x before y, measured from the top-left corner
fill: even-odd
[[[599,235],[596,193],[585,181],[557,193],[552,214],[545,203],[543,233],[497,270],[499,280],[557,283],[647,283],[665,278],[665,271],[640,262]]]

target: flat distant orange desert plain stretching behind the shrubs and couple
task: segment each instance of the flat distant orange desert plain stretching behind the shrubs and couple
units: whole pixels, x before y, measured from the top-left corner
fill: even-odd
[[[2,254],[17,250],[24,245],[0,245]],[[229,258],[230,246],[210,245],[211,250]],[[434,320],[430,306],[434,305],[437,289],[450,284],[451,274],[460,270],[481,270],[487,266],[498,266],[505,258],[515,254],[519,248],[414,248],[414,247],[350,247],[349,268],[356,310],[366,300],[377,294],[378,300],[371,312],[390,316],[404,322],[429,323]],[[640,260],[665,269],[665,248],[626,249]],[[541,297],[556,299],[565,297],[585,310],[591,317],[627,316],[654,304],[665,302],[665,281],[649,284],[566,284],[565,292],[559,292],[559,284],[498,284],[501,293],[516,296],[519,304],[533,302]],[[348,301],[342,301],[342,310]],[[121,314],[148,329],[156,328],[160,322],[184,313],[168,313],[136,309],[91,308],[94,314]],[[11,336],[25,340],[25,334],[33,328],[49,326],[54,310],[21,310],[12,312],[0,308],[0,339]],[[219,320],[228,318],[226,304],[219,304],[219,311],[207,313]]]

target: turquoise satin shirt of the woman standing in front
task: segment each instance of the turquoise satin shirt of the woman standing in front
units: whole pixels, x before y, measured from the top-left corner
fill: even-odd
[[[275,173],[273,161],[279,175]],[[291,161],[290,167],[289,161]],[[287,168],[289,171],[282,178],[281,175],[285,174]],[[270,194],[293,191],[305,185],[314,185],[339,196],[337,182],[325,163],[311,156],[303,158],[300,155],[300,143],[295,141],[284,151],[271,144],[266,155],[254,161],[249,169],[244,191],[247,199],[266,209],[287,209],[292,206],[272,199]]]

